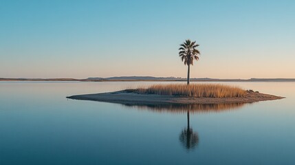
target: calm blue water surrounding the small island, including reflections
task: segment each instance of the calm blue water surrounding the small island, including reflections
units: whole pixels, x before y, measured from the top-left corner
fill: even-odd
[[[65,98],[145,84],[0,82],[0,164],[295,164],[295,83],[225,83],[287,98],[218,107]]]

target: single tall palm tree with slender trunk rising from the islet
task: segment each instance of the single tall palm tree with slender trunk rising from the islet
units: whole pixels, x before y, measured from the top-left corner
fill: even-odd
[[[184,61],[184,65],[188,65],[188,85],[190,84],[190,65],[193,65],[193,61],[199,60],[200,52],[196,49],[199,44],[196,41],[192,42],[189,39],[180,45],[179,56]]]

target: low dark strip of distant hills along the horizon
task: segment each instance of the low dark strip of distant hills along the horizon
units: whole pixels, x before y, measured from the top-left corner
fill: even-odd
[[[190,78],[191,81],[241,81],[241,82],[295,82],[295,78],[250,78],[250,79],[219,79],[219,78]],[[186,81],[181,77],[153,76],[118,76],[109,78],[0,78],[0,81]]]

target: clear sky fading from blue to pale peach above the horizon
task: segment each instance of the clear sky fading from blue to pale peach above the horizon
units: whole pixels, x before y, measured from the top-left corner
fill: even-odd
[[[0,1],[0,77],[295,78],[295,1]]]

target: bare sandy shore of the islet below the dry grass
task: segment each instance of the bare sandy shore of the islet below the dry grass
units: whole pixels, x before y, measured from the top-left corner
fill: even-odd
[[[75,100],[92,100],[100,102],[114,102],[122,104],[224,104],[224,103],[251,103],[266,100],[282,99],[281,96],[248,92],[241,98],[194,98],[185,96],[163,96],[155,94],[136,94],[127,91],[115,91],[102,94],[83,94],[68,96],[67,98]]]

